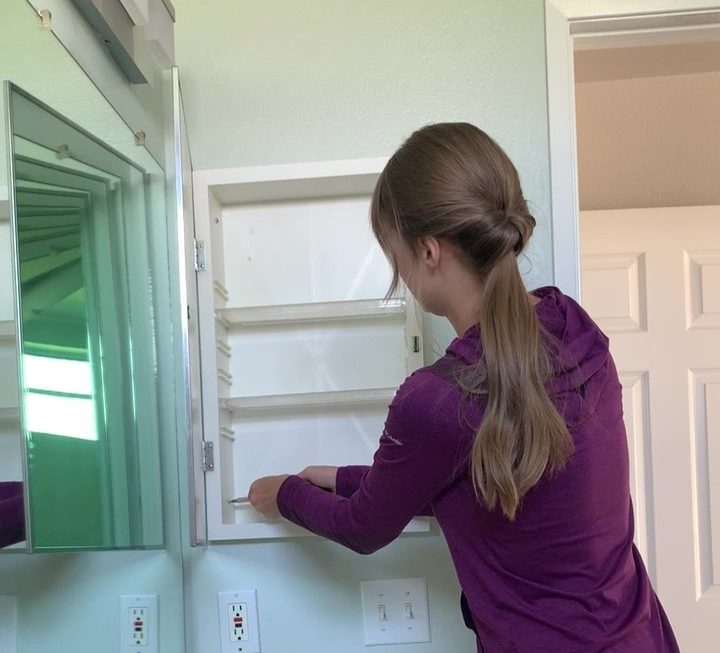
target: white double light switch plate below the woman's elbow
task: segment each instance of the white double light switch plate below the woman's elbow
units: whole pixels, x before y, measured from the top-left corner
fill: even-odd
[[[360,592],[366,646],[430,641],[426,578],[364,581]]]

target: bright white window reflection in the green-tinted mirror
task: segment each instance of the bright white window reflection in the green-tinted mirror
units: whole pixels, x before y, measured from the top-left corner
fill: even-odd
[[[90,363],[31,355],[23,362],[27,430],[97,440]]]

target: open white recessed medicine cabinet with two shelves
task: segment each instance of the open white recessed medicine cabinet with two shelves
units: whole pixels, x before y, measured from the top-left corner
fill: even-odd
[[[392,271],[368,211],[385,162],[194,173],[209,540],[305,534],[228,501],[260,476],[369,464],[423,364],[411,296],[383,299]]]

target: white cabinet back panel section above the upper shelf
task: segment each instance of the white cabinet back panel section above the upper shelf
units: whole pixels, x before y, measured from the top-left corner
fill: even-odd
[[[231,304],[384,297],[391,271],[368,209],[367,196],[226,207],[224,272]]]

